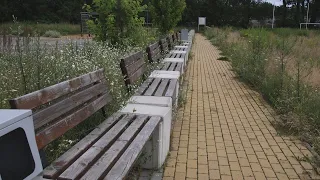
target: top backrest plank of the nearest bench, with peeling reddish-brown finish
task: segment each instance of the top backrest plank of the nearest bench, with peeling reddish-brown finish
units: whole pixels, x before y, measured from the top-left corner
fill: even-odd
[[[103,69],[9,100],[13,109],[34,109],[104,78]]]

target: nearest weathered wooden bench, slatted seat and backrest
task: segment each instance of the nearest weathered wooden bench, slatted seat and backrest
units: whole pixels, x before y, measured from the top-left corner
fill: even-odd
[[[33,110],[39,149],[111,102],[102,69],[10,100],[12,108]],[[115,113],[46,167],[42,176],[123,179],[161,121],[159,116]]]

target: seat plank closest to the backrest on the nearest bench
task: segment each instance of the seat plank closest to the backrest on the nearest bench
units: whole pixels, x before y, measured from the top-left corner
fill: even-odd
[[[76,145],[56,159],[50,166],[44,169],[43,177],[56,179],[67,167],[80,157],[89,147],[98,141],[107,131],[109,131],[120,119],[133,117],[133,115],[116,113],[102,122],[86,137],[81,139]]]

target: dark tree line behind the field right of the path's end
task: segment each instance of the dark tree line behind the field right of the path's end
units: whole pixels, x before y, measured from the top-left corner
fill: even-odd
[[[279,1],[280,2],[280,1]],[[262,0],[186,0],[183,23],[194,25],[198,16],[207,17],[208,25],[248,27],[250,20],[267,20],[273,17],[273,4]],[[279,27],[298,27],[306,22],[320,20],[319,0],[282,0],[275,7],[276,25]]]

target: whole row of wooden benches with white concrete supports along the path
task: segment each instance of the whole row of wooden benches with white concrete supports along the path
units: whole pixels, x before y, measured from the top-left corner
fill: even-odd
[[[46,167],[37,179],[123,179],[139,155],[141,166],[158,169],[170,146],[172,107],[177,102],[194,31],[185,42],[174,34],[147,48],[149,62],[161,62],[128,104]],[[145,74],[143,52],[121,60],[125,83]],[[163,58],[164,57],[164,58]],[[38,149],[112,103],[103,69],[10,100],[14,109],[32,109]],[[105,113],[104,113],[105,115]]]

